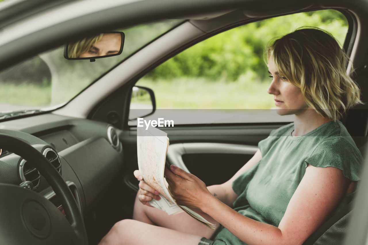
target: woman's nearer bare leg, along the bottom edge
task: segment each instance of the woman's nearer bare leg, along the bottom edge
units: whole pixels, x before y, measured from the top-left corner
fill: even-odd
[[[99,245],[198,245],[201,238],[136,220],[121,220],[102,238]]]

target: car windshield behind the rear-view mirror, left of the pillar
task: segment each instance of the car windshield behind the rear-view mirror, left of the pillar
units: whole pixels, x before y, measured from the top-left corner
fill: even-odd
[[[183,20],[166,20],[116,30],[125,33],[123,53],[118,56],[95,62],[67,60],[62,46],[1,71],[0,114],[50,110],[63,105],[126,57],[180,22]]]

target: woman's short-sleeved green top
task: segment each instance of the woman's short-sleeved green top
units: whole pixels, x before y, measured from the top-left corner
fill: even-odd
[[[362,155],[340,121],[329,121],[303,136],[291,136],[294,123],[271,132],[259,142],[262,159],[233,182],[239,196],[234,209],[263,223],[279,226],[286,207],[305,174],[307,164],[336,167],[357,181]],[[344,196],[337,212],[351,200]],[[245,244],[221,227],[214,245]]]

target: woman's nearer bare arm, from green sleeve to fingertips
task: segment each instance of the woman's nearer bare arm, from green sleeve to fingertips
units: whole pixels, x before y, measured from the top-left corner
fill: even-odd
[[[275,227],[231,209],[194,175],[174,166],[171,170],[181,176],[165,170],[169,189],[179,204],[201,209],[249,245],[302,244],[335,209],[350,182],[335,167],[308,166],[279,227]]]

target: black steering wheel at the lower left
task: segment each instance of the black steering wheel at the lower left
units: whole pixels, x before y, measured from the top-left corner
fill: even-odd
[[[14,136],[0,134],[0,148],[32,163],[51,185],[66,214],[65,218],[37,192],[17,185],[0,184],[0,244],[88,245],[74,196],[52,164],[28,142]]]

